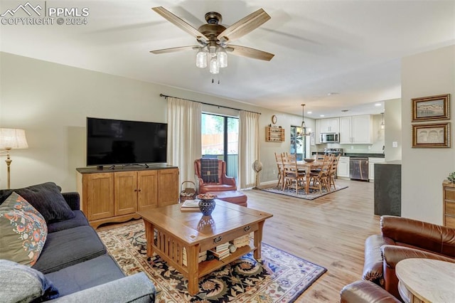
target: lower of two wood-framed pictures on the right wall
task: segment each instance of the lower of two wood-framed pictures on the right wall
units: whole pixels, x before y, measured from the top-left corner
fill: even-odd
[[[450,122],[412,125],[412,147],[450,147]]]

